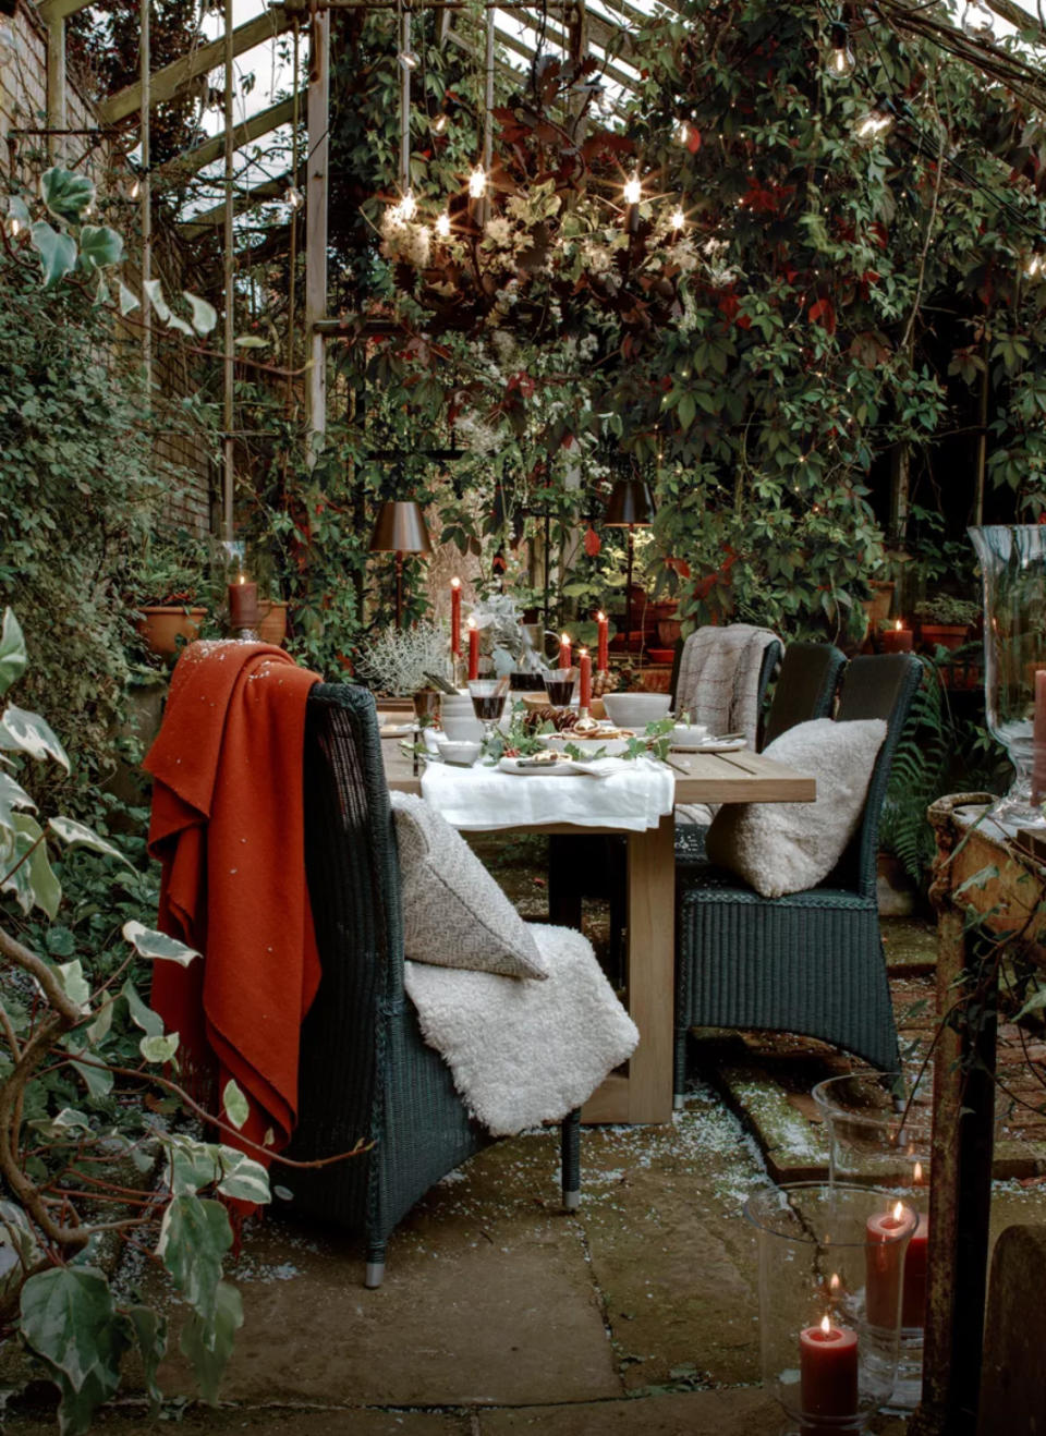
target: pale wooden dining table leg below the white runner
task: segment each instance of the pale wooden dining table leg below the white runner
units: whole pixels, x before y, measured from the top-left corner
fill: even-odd
[[[639,1045],[626,1083],[611,1077],[582,1109],[582,1122],[672,1120],[675,998],[675,820],[628,834],[628,1011]]]

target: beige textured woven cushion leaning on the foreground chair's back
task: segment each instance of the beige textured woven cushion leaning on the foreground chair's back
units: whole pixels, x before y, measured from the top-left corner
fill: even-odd
[[[409,793],[392,794],[404,949],[415,962],[546,978],[530,929],[466,840]]]

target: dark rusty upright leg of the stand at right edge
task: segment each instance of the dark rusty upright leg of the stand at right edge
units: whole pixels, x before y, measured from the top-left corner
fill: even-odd
[[[945,1027],[934,1053],[927,1331],[914,1436],[973,1436],[977,1429],[996,1064],[996,982],[981,972],[977,948],[961,913],[938,913],[938,1021],[961,985],[978,989],[981,1021],[973,1038]]]

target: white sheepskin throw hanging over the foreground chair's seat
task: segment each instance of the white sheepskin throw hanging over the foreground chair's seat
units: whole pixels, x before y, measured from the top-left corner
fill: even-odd
[[[404,964],[421,1035],[497,1137],[580,1107],[639,1041],[588,938],[543,923],[530,932],[549,969],[545,982]]]

